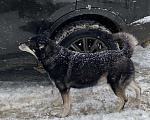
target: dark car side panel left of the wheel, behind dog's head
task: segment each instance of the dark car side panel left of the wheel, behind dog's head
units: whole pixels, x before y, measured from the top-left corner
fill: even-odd
[[[16,59],[25,55],[18,49],[19,42],[39,34],[47,18],[51,19],[50,26],[64,14],[75,10],[75,6],[76,0],[1,0],[0,71],[23,63],[22,59]],[[26,63],[30,61],[27,60]]]

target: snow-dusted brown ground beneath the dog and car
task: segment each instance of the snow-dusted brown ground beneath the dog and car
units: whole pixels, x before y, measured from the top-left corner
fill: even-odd
[[[52,107],[57,98],[57,90],[51,85],[30,84],[27,82],[3,81],[0,88],[1,119],[49,119],[49,120],[150,120],[150,46],[137,47],[133,61],[136,68],[136,81],[142,88],[140,108],[137,108],[135,91],[126,90],[129,101],[120,113],[109,113],[119,104],[119,99],[104,84],[86,89],[71,89],[71,112],[66,118],[55,114],[62,105]],[[28,78],[28,76],[26,76]],[[27,79],[26,78],[26,79]],[[42,77],[41,77],[42,78]],[[44,81],[43,81],[44,82]],[[46,81],[45,81],[46,83]]]

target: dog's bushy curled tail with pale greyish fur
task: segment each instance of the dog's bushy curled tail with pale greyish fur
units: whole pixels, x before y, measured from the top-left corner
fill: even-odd
[[[125,32],[113,34],[113,39],[114,41],[123,42],[121,53],[126,55],[128,58],[131,58],[134,49],[138,44],[137,39],[133,35]]]

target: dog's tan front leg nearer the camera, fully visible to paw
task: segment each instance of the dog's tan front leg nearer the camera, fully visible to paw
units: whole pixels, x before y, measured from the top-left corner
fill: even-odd
[[[57,114],[57,117],[64,118],[69,114],[70,111],[70,89],[64,93],[61,93],[63,99],[64,109],[61,113]]]

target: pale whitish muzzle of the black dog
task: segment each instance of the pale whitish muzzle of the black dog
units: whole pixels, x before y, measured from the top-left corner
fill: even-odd
[[[31,50],[26,44],[21,43],[21,44],[19,45],[19,49],[20,49],[21,51],[26,51],[26,52],[28,52],[28,53],[34,55],[34,56],[37,58],[37,56],[36,56],[36,54],[35,54],[35,51]],[[38,58],[37,58],[37,59],[38,59]]]

